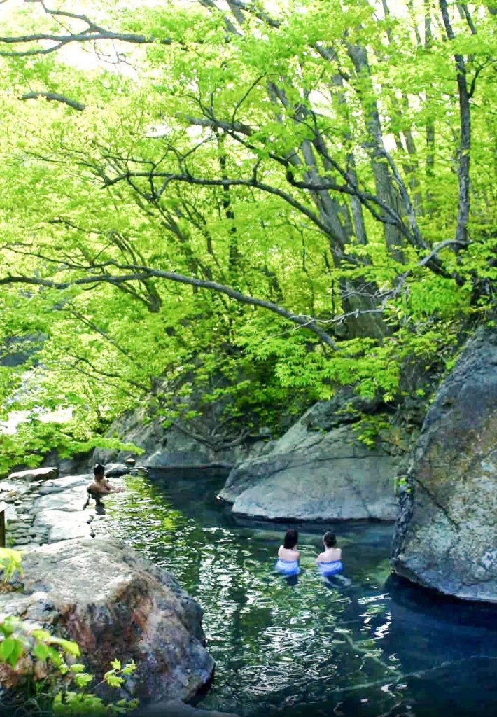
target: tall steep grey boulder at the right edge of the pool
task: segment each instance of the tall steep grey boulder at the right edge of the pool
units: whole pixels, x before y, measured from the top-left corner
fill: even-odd
[[[425,418],[394,537],[399,574],[497,602],[497,332],[479,331]]]

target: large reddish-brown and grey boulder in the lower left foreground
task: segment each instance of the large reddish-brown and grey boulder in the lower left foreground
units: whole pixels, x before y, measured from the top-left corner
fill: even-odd
[[[141,700],[186,700],[211,679],[199,605],[128,546],[102,538],[54,543],[29,552],[22,567],[11,579],[16,592],[0,594],[0,612],[78,642],[78,662],[97,681],[115,658],[135,660],[125,687]],[[2,685],[16,679],[0,665]]]

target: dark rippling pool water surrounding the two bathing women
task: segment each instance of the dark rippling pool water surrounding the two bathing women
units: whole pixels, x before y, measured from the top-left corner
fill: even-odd
[[[100,528],[170,569],[204,609],[212,687],[197,704],[242,716],[494,717],[497,609],[389,576],[391,526],[335,526],[350,587],[327,587],[321,532],[300,528],[302,573],[273,572],[285,526],[240,526],[216,479],[126,478]],[[101,522],[100,522],[101,521]]]

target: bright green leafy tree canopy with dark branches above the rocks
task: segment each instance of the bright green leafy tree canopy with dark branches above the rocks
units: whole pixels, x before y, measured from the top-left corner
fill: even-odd
[[[340,385],[395,403],[491,320],[495,0],[0,18],[0,393],[27,412],[0,468],[145,400],[187,418],[192,385],[228,428]]]

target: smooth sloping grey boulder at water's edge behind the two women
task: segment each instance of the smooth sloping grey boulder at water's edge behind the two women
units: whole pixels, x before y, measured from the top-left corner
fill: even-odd
[[[316,404],[268,453],[237,466],[221,498],[250,518],[394,520],[394,478],[407,468],[408,441],[392,429],[370,450],[348,423],[353,416]]]

